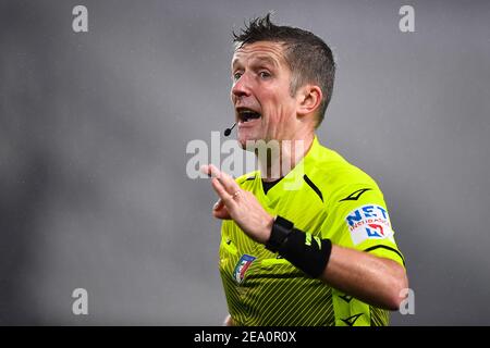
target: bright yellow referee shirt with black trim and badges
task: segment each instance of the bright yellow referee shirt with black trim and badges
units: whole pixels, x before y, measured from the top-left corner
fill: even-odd
[[[315,137],[303,160],[264,192],[260,172],[236,179],[272,215],[335,245],[404,265],[377,184]],[[233,222],[221,228],[220,274],[237,325],[388,325],[389,312],[311,278],[248,238]]]

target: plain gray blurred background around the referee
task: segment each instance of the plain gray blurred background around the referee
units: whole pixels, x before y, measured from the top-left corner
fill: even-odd
[[[0,324],[221,323],[185,149],[233,122],[231,30],[270,10],[333,47],[318,134],[385,195],[415,291],[392,323],[490,324],[490,2],[388,0],[1,0]]]

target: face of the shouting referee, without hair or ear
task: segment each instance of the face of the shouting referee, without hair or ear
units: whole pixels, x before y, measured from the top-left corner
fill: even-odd
[[[237,49],[232,60],[237,139],[293,139],[296,99],[291,96],[291,71],[281,44],[258,41]]]

